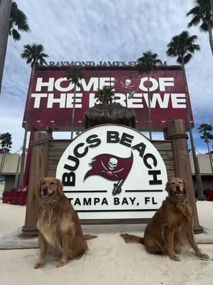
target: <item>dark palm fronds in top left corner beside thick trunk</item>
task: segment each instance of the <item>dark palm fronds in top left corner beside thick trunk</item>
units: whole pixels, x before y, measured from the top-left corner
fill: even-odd
[[[18,31],[29,32],[31,31],[28,25],[28,19],[26,14],[23,13],[15,1],[12,1],[11,4],[11,19],[9,22],[9,35],[13,36],[15,41],[19,41],[21,39],[21,34]]]

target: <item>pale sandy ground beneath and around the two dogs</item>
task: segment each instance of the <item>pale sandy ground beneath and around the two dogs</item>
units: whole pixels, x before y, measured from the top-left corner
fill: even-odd
[[[200,224],[213,227],[213,202],[197,202]],[[25,207],[0,203],[0,237],[22,227]],[[201,261],[192,249],[182,252],[181,262],[166,256],[148,254],[140,244],[124,244],[119,231],[89,241],[89,250],[80,259],[56,268],[55,257],[48,257],[43,269],[33,269],[38,249],[0,251],[0,280],[4,285],[75,284],[75,285],[212,285],[213,261]],[[107,233],[108,232],[108,233]],[[200,244],[213,258],[213,244]]]

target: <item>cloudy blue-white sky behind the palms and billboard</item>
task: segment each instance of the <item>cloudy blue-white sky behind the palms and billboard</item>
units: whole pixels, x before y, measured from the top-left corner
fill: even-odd
[[[170,39],[187,29],[192,0],[16,0],[28,17],[31,33],[21,41],[9,37],[0,97],[0,133],[13,138],[12,152],[22,145],[23,109],[31,68],[21,58],[23,45],[41,43],[48,61],[135,61],[144,51],[158,53],[162,61],[175,64],[165,54]],[[206,152],[197,127],[213,125],[213,56],[207,33],[197,34],[201,51],[187,64],[187,82],[194,115],[197,150]],[[62,138],[68,138],[62,134]]]

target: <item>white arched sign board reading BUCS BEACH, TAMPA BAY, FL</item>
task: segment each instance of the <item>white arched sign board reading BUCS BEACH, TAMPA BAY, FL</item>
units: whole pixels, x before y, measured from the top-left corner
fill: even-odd
[[[165,199],[167,173],[158,150],[121,125],[99,125],[75,138],[56,177],[80,219],[149,218]]]

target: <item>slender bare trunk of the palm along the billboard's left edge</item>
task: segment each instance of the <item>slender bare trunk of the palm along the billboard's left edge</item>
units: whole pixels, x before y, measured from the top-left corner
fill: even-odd
[[[24,162],[25,162],[25,155],[26,155],[26,140],[28,135],[28,119],[29,119],[29,113],[31,108],[31,101],[32,101],[32,91],[33,91],[33,78],[35,73],[35,62],[33,62],[32,71],[31,71],[31,86],[29,87],[29,98],[28,98],[28,104],[26,108],[26,126],[24,130],[24,136],[23,136],[23,146],[22,146],[22,152],[21,152],[21,167],[20,167],[20,179],[18,182],[19,186],[23,186],[23,173],[24,173]]]

